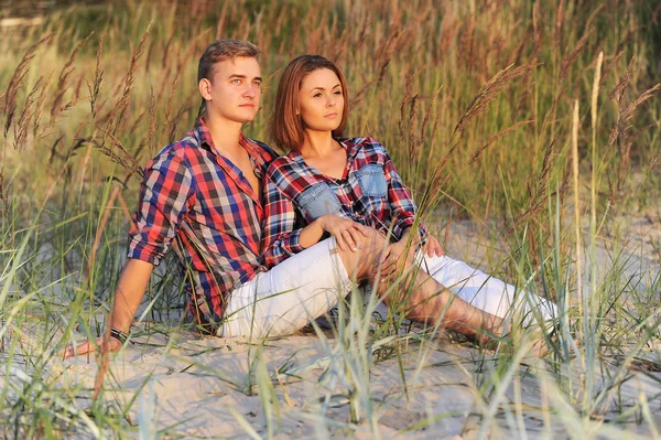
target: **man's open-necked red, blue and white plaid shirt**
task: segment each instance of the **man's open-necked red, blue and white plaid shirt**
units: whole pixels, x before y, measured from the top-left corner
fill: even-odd
[[[262,179],[277,154],[242,135],[239,142]],[[183,140],[148,163],[128,257],[158,266],[176,243],[172,247],[192,294],[191,310],[198,322],[218,323],[229,292],[266,270],[260,196],[240,169],[217,152],[201,118]]]

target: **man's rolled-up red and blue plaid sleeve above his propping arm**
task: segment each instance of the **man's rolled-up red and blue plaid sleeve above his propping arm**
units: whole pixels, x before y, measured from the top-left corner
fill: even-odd
[[[195,182],[180,157],[163,154],[148,163],[129,232],[128,257],[158,266],[194,196]]]

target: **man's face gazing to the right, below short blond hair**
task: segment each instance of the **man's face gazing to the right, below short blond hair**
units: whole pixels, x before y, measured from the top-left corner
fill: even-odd
[[[235,122],[253,120],[261,99],[261,81],[256,58],[237,56],[216,63],[213,79],[199,82],[208,117]]]

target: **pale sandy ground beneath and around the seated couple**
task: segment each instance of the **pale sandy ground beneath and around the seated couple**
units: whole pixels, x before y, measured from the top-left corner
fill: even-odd
[[[622,278],[638,277],[640,282],[650,282],[658,276],[661,227],[646,218],[630,225],[626,249],[609,248],[607,242],[599,244],[600,265],[611,267],[625,261]],[[498,256],[481,245],[487,242],[470,225],[455,223],[446,248],[453,257],[488,268]],[[109,410],[117,411],[140,394],[128,414],[128,420],[139,427],[136,437],[144,432],[159,438],[249,438],[238,418],[245,419],[259,437],[268,437],[260,396],[248,391],[254,346],[241,340],[201,337],[193,332],[152,336],[144,333],[137,325],[132,343],[112,357],[102,397]],[[332,347],[334,335],[325,335]],[[652,367],[627,373],[627,380],[606,399],[603,418],[586,426],[562,410],[566,397],[560,397],[557,382],[544,374],[549,364],[525,357],[513,380],[495,380],[498,362],[494,353],[483,354],[455,340],[456,336],[444,334],[433,342],[403,345],[402,368],[393,356],[375,362],[368,387],[373,416],[359,425],[348,423],[346,371],[336,367],[337,356],[329,355],[325,339],[308,328],[290,337],[269,341],[262,356],[280,410],[280,420],[273,418],[271,423],[274,437],[581,438],[592,432],[599,438],[621,439],[652,436],[655,426],[661,426],[661,373],[653,372],[661,365],[659,351],[647,356]],[[609,372],[613,374],[617,367],[614,358],[598,372],[598,377],[606,383]],[[79,390],[77,401],[85,408],[90,405],[96,373],[94,358],[54,358],[46,382]],[[489,387],[490,382],[507,386]],[[564,384],[573,394],[579,385]],[[505,398],[481,395],[480,388],[503,393]],[[650,401],[650,415],[643,417],[639,410],[626,414],[641,395]],[[492,407],[492,401],[502,404]],[[523,405],[510,405],[517,401]],[[491,416],[494,422],[485,428],[485,420]],[[88,434],[80,432],[79,437]]]

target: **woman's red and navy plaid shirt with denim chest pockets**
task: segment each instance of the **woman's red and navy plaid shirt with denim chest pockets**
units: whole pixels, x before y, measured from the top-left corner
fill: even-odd
[[[301,229],[315,217],[301,208],[305,191],[325,182],[337,197],[335,215],[373,227],[399,240],[415,221],[416,206],[410,191],[395,171],[388,152],[372,138],[336,139],[347,150],[347,167],[343,179],[333,179],[308,167],[297,150],[275,159],[264,182],[263,261],[272,267],[303,250]],[[387,189],[368,194],[361,171],[372,165],[382,169]],[[364,178],[365,179],[365,178]],[[367,178],[369,179],[369,178]],[[369,182],[367,182],[369,184]],[[315,195],[313,194],[313,197]],[[425,227],[419,223],[422,237]]]

